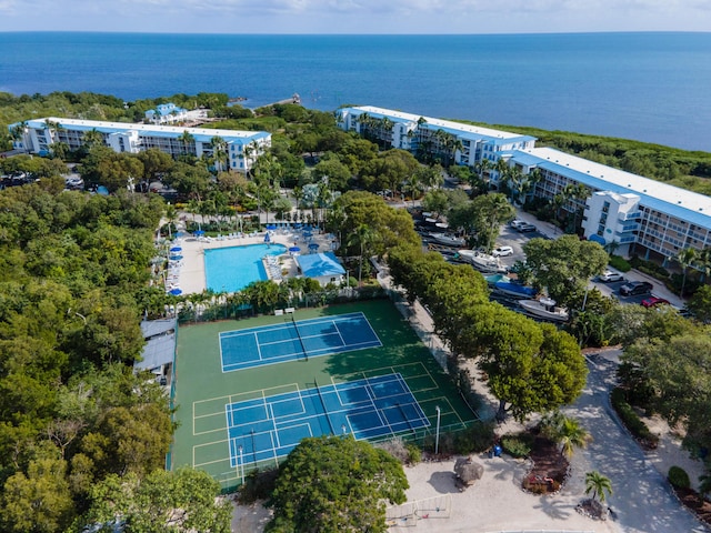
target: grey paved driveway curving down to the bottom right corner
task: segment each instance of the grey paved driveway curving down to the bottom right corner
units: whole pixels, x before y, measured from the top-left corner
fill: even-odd
[[[589,356],[588,362],[588,384],[575,404],[565,410],[593,436],[585,450],[575,452],[572,483],[582,483],[584,472],[591,470],[607,475],[614,491],[609,505],[614,511],[617,525],[625,533],[708,532],[680,504],[664,477],[647,461],[613,414],[609,392],[614,386],[617,362],[602,355]]]

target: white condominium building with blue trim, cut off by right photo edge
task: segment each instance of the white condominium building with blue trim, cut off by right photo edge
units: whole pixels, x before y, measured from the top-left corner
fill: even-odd
[[[687,248],[711,247],[711,198],[642,175],[613,169],[552,148],[505,154],[523,174],[534,169],[540,181],[532,194],[553,199],[567,184],[582,184],[585,194],[568,199],[568,210],[581,210],[584,237],[617,253],[674,258]],[[563,194],[564,195],[564,194]]]

